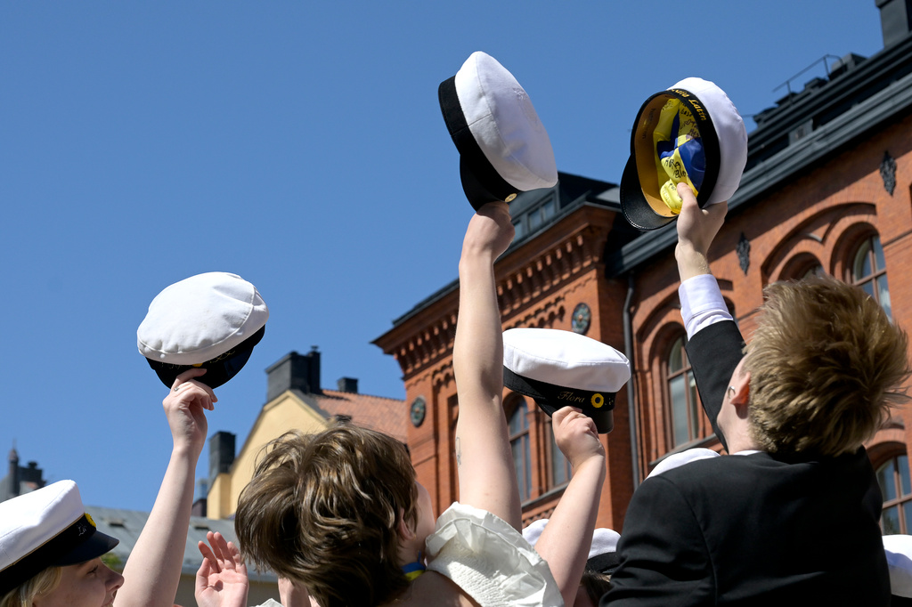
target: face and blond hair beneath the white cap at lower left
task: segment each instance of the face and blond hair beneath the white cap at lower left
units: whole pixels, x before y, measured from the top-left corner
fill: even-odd
[[[61,567],[57,588],[38,595],[32,607],[109,607],[121,585],[122,575],[92,559]]]

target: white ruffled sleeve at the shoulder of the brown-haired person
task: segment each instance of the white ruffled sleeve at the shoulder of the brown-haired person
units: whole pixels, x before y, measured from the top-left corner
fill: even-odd
[[[454,502],[428,537],[428,570],[482,607],[562,607],[548,563],[505,520]]]

